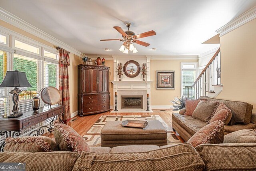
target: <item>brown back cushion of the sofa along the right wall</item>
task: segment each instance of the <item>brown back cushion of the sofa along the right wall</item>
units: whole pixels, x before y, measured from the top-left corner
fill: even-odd
[[[201,96],[200,99],[207,99],[207,101],[218,101],[224,103],[232,112],[232,118],[230,120],[230,125],[235,124],[247,124],[250,123],[252,108],[253,105],[240,102],[240,101],[230,101],[230,100],[222,100],[222,99],[213,99],[210,97]]]

